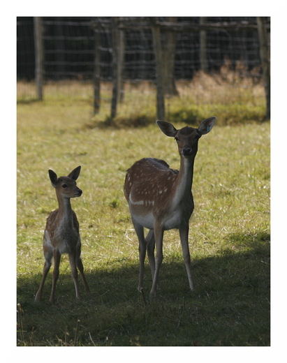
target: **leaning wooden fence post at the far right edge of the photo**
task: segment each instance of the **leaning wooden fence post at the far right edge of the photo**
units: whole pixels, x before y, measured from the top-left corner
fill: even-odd
[[[266,97],[265,118],[270,119],[270,47],[268,46],[267,30],[264,28],[264,18],[257,17],[260,58],[263,69],[263,83]]]

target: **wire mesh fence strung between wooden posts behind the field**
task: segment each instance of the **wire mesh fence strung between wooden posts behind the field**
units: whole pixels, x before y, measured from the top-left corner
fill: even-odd
[[[137,108],[140,95],[150,93],[156,108],[159,70],[151,27],[154,20],[147,17],[42,17],[43,96],[54,92],[54,87],[59,96],[70,94],[89,99],[96,113],[96,107],[100,108],[103,102],[112,103],[115,73],[120,73],[117,82],[121,84],[117,84],[117,88],[122,103],[134,102]],[[157,22],[161,29],[161,65],[168,70],[170,80],[163,84],[165,98],[184,97],[189,89],[193,92],[193,102],[212,102],[205,98],[204,92],[200,94],[200,87],[205,84],[216,92],[222,82],[228,86],[226,100],[240,82],[245,89],[259,85],[264,98],[256,17],[159,17]],[[269,18],[265,18],[265,27],[270,29]],[[119,33],[116,44],[115,29]],[[35,31],[33,17],[17,18],[18,101],[37,98]],[[121,52],[117,53],[118,48]],[[172,89],[168,91],[170,84]],[[98,101],[95,101],[96,91]]]

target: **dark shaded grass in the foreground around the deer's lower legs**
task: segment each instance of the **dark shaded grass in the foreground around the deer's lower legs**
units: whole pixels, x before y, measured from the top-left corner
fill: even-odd
[[[80,281],[81,302],[69,269],[60,273],[54,306],[51,273],[40,304],[34,295],[41,275],[21,278],[24,343],[33,336],[34,345],[69,345],[79,319],[82,346],[269,346],[270,235],[228,235],[226,242],[230,248],[193,260],[193,293],[179,257],[164,260],[156,299],[149,299],[149,267],[144,299],[136,290],[138,263],[125,258],[87,273],[91,293]]]

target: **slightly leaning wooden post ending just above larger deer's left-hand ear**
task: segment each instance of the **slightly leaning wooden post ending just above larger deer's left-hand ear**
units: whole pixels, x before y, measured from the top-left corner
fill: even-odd
[[[159,120],[165,119],[164,91],[163,91],[163,52],[161,50],[161,29],[152,17],[152,38],[156,56],[156,110]]]

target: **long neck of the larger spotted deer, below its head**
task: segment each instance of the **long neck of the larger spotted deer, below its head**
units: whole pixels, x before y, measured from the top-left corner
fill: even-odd
[[[176,196],[177,202],[187,198],[191,193],[191,186],[193,181],[193,165],[194,158],[184,158],[180,156],[180,168],[177,177],[176,184]]]

